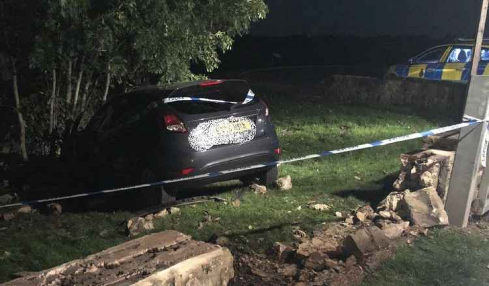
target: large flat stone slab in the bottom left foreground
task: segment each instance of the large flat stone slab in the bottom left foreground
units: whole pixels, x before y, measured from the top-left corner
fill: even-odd
[[[2,286],[209,286],[227,285],[233,276],[233,257],[227,248],[169,230],[28,273]]]

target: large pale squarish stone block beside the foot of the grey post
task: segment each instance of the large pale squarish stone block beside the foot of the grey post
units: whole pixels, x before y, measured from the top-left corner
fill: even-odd
[[[406,194],[398,213],[413,225],[422,227],[448,224],[443,201],[434,187]]]

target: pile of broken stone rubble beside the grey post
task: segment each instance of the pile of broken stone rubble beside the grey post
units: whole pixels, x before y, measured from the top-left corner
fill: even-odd
[[[364,205],[351,213],[332,213],[328,205],[309,204],[312,210],[332,213],[340,221],[320,224],[312,234],[294,229],[296,242],[275,242],[268,252],[267,267],[255,261],[251,272],[263,280],[278,279],[263,271],[271,267],[271,260],[276,263],[275,273],[289,285],[361,281],[365,272],[388,257],[385,253],[392,252],[396,240],[405,237],[410,243],[411,237],[428,235],[429,227],[448,224],[444,198],[453,158],[454,152],[439,150],[402,154],[394,191],[375,209]]]

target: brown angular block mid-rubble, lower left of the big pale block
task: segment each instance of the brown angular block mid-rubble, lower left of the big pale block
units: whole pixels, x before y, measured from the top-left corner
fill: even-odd
[[[355,255],[360,259],[366,254],[388,247],[389,244],[389,238],[377,226],[371,226],[349,235],[345,239],[344,250],[346,256]]]

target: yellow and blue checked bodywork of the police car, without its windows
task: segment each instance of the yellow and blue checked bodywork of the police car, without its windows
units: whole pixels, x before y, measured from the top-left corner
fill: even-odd
[[[452,47],[457,46],[472,46],[467,44],[451,44],[446,45],[446,50],[440,58],[439,63],[429,64],[410,64],[410,65],[396,65],[394,71],[397,76],[400,77],[413,77],[424,78],[429,80],[454,80],[454,81],[467,81],[471,62],[468,63],[446,63],[448,55],[450,54]],[[485,48],[489,46],[484,45]],[[477,68],[477,74],[489,75],[489,67],[487,61],[481,61]]]

